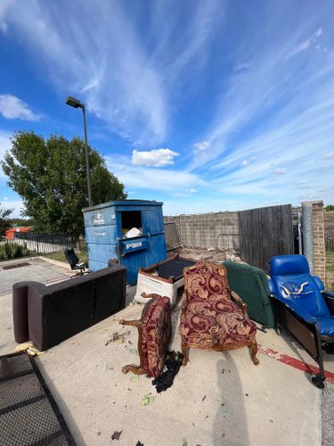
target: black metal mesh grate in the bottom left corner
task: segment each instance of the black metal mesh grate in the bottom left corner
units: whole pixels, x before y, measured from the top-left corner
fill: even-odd
[[[75,445],[35,359],[0,357],[1,446]]]

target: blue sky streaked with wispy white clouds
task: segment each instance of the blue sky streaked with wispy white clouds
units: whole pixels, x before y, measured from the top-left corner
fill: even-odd
[[[88,138],[165,214],[334,202],[334,3],[1,0],[0,159]],[[0,172],[0,202],[21,209]]]

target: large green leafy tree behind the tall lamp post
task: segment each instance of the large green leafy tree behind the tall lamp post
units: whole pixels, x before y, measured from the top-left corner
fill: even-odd
[[[100,154],[89,147],[93,203],[126,198],[124,185],[107,169]],[[34,132],[18,132],[2,162],[8,186],[20,194],[23,216],[35,229],[84,233],[82,209],[88,206],[85,142],[63,136],[45,139]]]

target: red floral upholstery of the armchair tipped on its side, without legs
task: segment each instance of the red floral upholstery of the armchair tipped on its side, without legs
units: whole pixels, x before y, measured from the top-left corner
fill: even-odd
[[[149,301],[142,314],[143,369],[150,377],[156,377],[164,367],[165,356],[172,333],[170,300],[158,297]]]

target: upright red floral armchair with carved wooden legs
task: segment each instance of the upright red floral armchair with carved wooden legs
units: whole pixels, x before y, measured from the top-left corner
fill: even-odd
[[[179,333],[183,366],[189,348],[224,351],[248,347],[257,366],[257,326],[249,320],[247,305],[230,290],[222,265],[200,262],[185,268]]]

